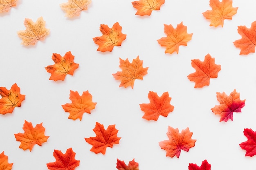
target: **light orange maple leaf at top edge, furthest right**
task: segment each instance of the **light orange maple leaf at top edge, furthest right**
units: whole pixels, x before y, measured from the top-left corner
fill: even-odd
[[[236,14],[238,7],[232,7],[232,0],[210,0],[210,6],[212,10],[207,10],[204,13],[204,17],[208,20],[211,20],[210,26],[219,26],[223,27],[224,20],[232,20],[232,16]]]

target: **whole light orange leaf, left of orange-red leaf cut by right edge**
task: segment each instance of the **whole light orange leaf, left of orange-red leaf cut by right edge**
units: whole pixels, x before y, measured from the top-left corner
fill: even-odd
[[[173,26],[164,24],[164,33],[167,37],[162,37],[157,42],[161,46],[165,46],[165,53],[172,54],[173,52],[179,53],[179,46],[187,45],[187,42],[191,40],[193,33],[188,34],[186,31],[186,26],[181,22],[177,24],[177,27],[174,29]]]

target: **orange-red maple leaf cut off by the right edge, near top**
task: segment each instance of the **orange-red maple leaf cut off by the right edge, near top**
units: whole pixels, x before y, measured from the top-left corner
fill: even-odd
[[[241,54],[255,53],[256,46],[256,21],[252,22],[251,28],[246,26],[238,26],[238,33],[242,36],[241,39],[234,41],[234,45],[241,49]]]

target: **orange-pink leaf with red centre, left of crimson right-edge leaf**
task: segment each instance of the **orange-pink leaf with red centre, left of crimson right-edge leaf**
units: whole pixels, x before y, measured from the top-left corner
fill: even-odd
[[[166,133],[169,140],[159,142],[159,146],[166,150],[166,157],[180,157],[180,151],[189,151],[189,148],[195,146],[196,139],[191,139],[193,132],[189,131],[189,128],[183,129],[181,133],[179,129],[168,126],[168,132]]]

